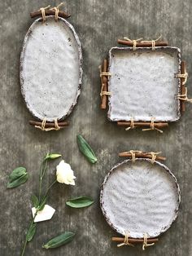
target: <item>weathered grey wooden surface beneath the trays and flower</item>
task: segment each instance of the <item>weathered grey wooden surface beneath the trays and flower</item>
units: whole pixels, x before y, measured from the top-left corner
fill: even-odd
[[[58,4],[59,2],[56,2]],[[41,223],[37,236],[30,243],[26,255],[192,255],[192,109],[187,105],[181,121],[172,124],[163,135],[141,130],[129,130],[107,121],[100,110],[100,78],[98,65],[118,38],[157,38],[163,35],[170,45],[181,47],[191,75],[192,2],[190,0],[159,1],[66,1],[66,11],[83,46],[84,77],[79,103],[68,118],[70,126],[58,132],[41,132],[28,125],[31,119],[20,94],[19,59],[24,35],[33,20],[29,12],[55,1],[1,1],[1,99],[0,99],[0,254],[19,255],[24,230],[30,215],[29,197],[37,191],[37,168],[47,152],[60,152],[76,172],[76,187],[57,185],[53,188],[50,205],[56,208],[54,218]],[[191,78],[189,93],[192,95]],[[81,133],[93,145],[98,164],[90,166],[76,146],[76,135]],[[98,205],[98,194],[107,170],[117,161],[119,152],[129,149],[162,151],[166,165],[174,172],[181,187],[181,210],[177,222],[161,237],[158,244],[142,253],[137,248],[116,248],[111,237],[116,233],[107,225]],[[15,190],[7,190],[7,174],[16,166],[26,166],[28,183]],[[55,170],[51,170],[53,175]],[[65,201],[70,196],[86,194],[96,203],[89,209],[69,210]],[[47,238],[64,230],[76,231],[72,244],[60,249],[45,250],[41,245]]]

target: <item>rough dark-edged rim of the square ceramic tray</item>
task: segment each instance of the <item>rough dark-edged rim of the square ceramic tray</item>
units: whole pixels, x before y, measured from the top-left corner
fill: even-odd
[[[149,51],[151,50],[152,47],[137,47],[137,50],[142,50],[142,51]],[[181,73],[181,49],[177,46],[156,46],[155,49],[159,49],[159,50],[164,50],[164,49],[173,49],[175,51],[177,51],[177,59],[178,59],[178,72]],[[112,51],[113,50],[122,50],[122,51],[133,51],[133,47],[129,47],[129,46],[114,46],[114,47],[111,47],[111,49],[109,50],[108,52],[108,67],[107,67],[107,72],[110,73],[110,68],[111,68],[111,55],[112,55]],[[136,51],[137,51],[136,50]],[[110,77],[109,77],[109,81],[108,81],[108,86],[110,85]],[[180,94],[180,91],[181,91],[181,79],[178,78],[178,94]],[[108,97],[108,100],[107,100],[107,104],[108,104],[108,111],[107,111],[107,119],[108,121],[112,121],[112,122],[118,122],[118,121],[131,121],[130,119],[113,119],[110,117],[111,115],[111,97]],[[171,122],[175,122],[175,121],[179,121],[181,119],[181,102],[179,99],[177,99],[177,118],[174,118],[172,120],[164,120],[161,122],[168,122],[168,123],[171,123]],[[149,120],[151,121],[151,120]],[[159,120],[155,120],[157,122],[159,122]],[[142,119],[139,119],[135,122],[147,122],[147,121],[143,121]]]

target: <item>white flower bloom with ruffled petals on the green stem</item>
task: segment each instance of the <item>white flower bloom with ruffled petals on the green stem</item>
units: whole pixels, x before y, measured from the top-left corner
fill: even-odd
[[[57,181],[59,183],[75,185],[74,179],[76,179],[76,177],[74,176],[73,170],[69,164],[62,160],[59,162],[59,165],[56,167],[56,169]]]

